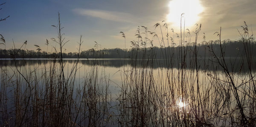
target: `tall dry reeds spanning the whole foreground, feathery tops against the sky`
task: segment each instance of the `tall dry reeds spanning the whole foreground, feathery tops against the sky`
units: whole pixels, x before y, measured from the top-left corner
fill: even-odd
[[[239,31],[244,50],[233,63],[225,57],[221,29],[215,33],[220,53],[215,52],[211,43],[206,43],[204,35],[204,50],[210,57],[198,59],[201,25],[197,25],[193,35],[189,30],[185,33],[182,25],[177,40],[173,29],[170,33],[165,22],[154,25],[161,34],[148,31],[145,26],[137,29],[136,40],[131,42],[131,54],[127,54],[130,60],[122,61],[124,66],[118,71],[121,83],[113,97],[109,88],[113,82],[97,59],[104,58],[104,54],[97,50],[98,43],[90,50],[95,54],[90,68],[83,68],[79,62],[81,38],[76,62],[70,67],[63,59],[63,46],[68,41],[64,40],[59,17],[58,24],[52,25],[58,36],[51,39],[59,46],[52,48],[56,56],[49,62],[18,66],[13,54],[15,68],[8,71],[8,65],[1,66],[0,124],[42,127],[256,126],[256,73],[252,56],[255,42],[246,23]],[[124,32],[120,33],[125,39]],[[191,40],[192,36],[195,40]],[[161,46],[163,64],[156,59],[155,39]],[[4,38],[1,41],[4,42]],[[195,42],[192,48],[186,46],[192,42]],[[180,45],[178,50],[175,50],[175,43]],[[26,42],[16,54],[24,46]],[[41,51],[39,45],[35,47]],[[131,66],[126,66],[127,62]],[[161,67],[154,68],[155,64],[161,64]],[[235,73],[233,69],[237,64],[240,68]],[[245,67],[249,71],[244,72]],[[84,76],[80,76],[80,71]]]

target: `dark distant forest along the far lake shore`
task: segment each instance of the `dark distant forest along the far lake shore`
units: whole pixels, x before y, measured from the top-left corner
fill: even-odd
[[[256,43],[250,44],[250,48],[253,49],[250,54],[252,56],[256,55]],[[241,57],[245,54],[244,46],[247,46],[246,43],[241,41],[231,41],[224,40],[221,42],[225,57]],[[137,56],[137,59],[167,59],[172,56],[180,56],[180,49],[182,54],[186,54],[186,58],[193,57],[195,43],[186,44],[186,46],[169,46],[169,47],[144,47],[137,46],[136,48],[132,47],[131,49],[121,49],[121,48],[112,48],[112,49],[90,49],[87,51],[81,52],[80,58],[134,58]],[[207,58],[212,55],[211,51],[214,51],[217,56],[221,54],[221,48],[218,40],[201,42],[197,45],[198,58]],[[145,53],[145,56],[141,54]],[[0,49],[0,58],[58,58],[60,53],[50,53],[46,51],[34,51],[34,50],[23,50],[23,49]],[[77,58],[77,52],[63,53],[63,58]],[[153,57],[152,57],[153,56]]]

